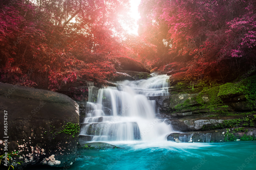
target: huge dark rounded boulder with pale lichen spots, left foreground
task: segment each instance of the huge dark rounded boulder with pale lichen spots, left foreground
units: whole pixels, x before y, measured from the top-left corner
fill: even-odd
[[[21,165],[70,165],[76,160],[79,107],[66,95],[0,83],[0,112],[7,113],[8,151],[18,151]],[[4,119],[0,126],[4,127]],[[70,133],[70,134],[69,134]],[[3,138],[8,136],[8,138]],[[4,146],[0,144],[0,155]],[[18,165],[18,164],[17,164]]]

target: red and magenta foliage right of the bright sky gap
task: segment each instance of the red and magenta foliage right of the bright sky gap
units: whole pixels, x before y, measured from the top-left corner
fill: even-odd
[[[189,61],[191,79],[246,71],[256,64],[255,9],[254,1],[243,0],[143,0],[141,35],[155,40],[158,32],[170,62]]]

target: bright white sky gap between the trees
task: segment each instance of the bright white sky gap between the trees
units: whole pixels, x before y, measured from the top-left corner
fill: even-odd
[[[135,28],[133,28],[133,30],[129,29],[128,32],[130,34],[138,35],[138,24],[137,24],[137,21],[140,18],[140,14],[138,12],[138,6],[141,3],[141,0],[130,0],[130,3],[131,3],[131,13],[130,13],[130,15],[135,20],[134,21]]]

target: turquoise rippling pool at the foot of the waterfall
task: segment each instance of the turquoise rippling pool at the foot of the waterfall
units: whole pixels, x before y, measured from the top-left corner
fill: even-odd
[[[113,144],[124,149],[85,150],[69,169],[256,169],[256,141]]]

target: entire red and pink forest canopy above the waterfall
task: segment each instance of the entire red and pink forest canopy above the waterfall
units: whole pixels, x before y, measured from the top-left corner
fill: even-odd
[[[119,57],[200,75],[255,67],[256,2],[142,0],[129,35],[129,0],[1,0],[1,82],[57,90],[77,78],[104,84]]]

